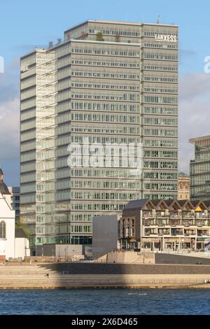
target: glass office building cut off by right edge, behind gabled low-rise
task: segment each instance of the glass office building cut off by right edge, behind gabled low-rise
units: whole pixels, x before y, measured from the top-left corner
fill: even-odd
[[[195,160],[190,161],[190,200],[210,200],[210,136],[190,139]]]

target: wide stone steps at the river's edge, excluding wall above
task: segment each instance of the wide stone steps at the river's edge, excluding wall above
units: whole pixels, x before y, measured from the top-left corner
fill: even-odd
[[[38,265],[0,267],[0,289],[206,287],[208,281],[210,274],[65,274]]]

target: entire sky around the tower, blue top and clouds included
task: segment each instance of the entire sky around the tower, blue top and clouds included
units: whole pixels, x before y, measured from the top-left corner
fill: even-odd
[[[191,137],[209,134],[210,2],[0,0],[0,165],[8,185],[19,183],[19,57],[35,46],[63,37],[64,30],[87,19],[160,22],[179,25],[180,169],[188,172],[193,157]]]

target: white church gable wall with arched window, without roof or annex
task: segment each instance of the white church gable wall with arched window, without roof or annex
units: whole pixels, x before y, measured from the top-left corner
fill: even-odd
[[[15,211],[0,193],[0,255],[15,257]]]

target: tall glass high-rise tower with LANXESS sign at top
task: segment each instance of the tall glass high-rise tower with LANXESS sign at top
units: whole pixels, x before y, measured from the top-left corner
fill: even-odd
[[[176,199],[178,30],[88,20],[21,58],[20,212],[31,248],[89,244],[94,215]],[[126,152],[140,154],[136,173]]]

